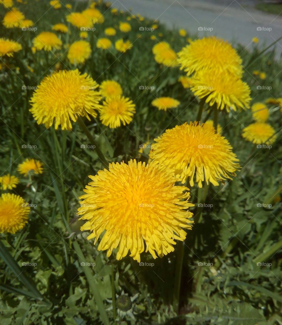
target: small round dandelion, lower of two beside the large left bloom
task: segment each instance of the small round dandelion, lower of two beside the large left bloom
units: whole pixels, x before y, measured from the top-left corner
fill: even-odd
[[[123,96],[106,97],[100,109],[100,120],[102,124],[111,129],[129,124],[135,113],[135,104],[129,98]]]

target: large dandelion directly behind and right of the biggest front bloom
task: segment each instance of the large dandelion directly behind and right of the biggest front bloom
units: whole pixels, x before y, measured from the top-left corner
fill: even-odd
[[[177,125],[155,141],[150,158],[172,169],[182,183],[189,178],[190,186],[194,185],[195,171],[196,182],[202,187],[204,180],[217,186],[218,181],[231,178],[239,169],[239,160],[227,139],[209,125]]]

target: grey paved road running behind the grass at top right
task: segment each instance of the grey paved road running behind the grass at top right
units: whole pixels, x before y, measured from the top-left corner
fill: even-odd
[[[254,0],[112,0],[113,7],[132,9],[133,13],[159,20],[168,28],[184,28],[200,36],[217,35],[250,49],[252,37],[258,37],[259,45],[263,46],[282,36],[282,18],[254,9],[254,3]],[[198,30],[201,27],[203,31]],[[204,31],[210,28],[213,30]],[[278,43],[277,58],[282,53],[282,40]]]

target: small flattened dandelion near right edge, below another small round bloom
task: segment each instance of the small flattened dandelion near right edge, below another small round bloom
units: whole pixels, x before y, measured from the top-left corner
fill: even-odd
[[[256,122],[243,129],[243,138],[255,144],[272,144],[276,140],[274,128],[267,124]]]

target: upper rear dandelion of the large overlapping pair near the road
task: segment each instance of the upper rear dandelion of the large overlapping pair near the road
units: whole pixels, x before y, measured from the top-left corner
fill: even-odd
[[[239,77],[243,73],[242,59],[227,41],[220,38],[204,37],[197,39],[184,47],[178,56],[180,69],[184,69],[187,74],[202,69],[213,69],[217,72],[227,70],[227,72]]]

